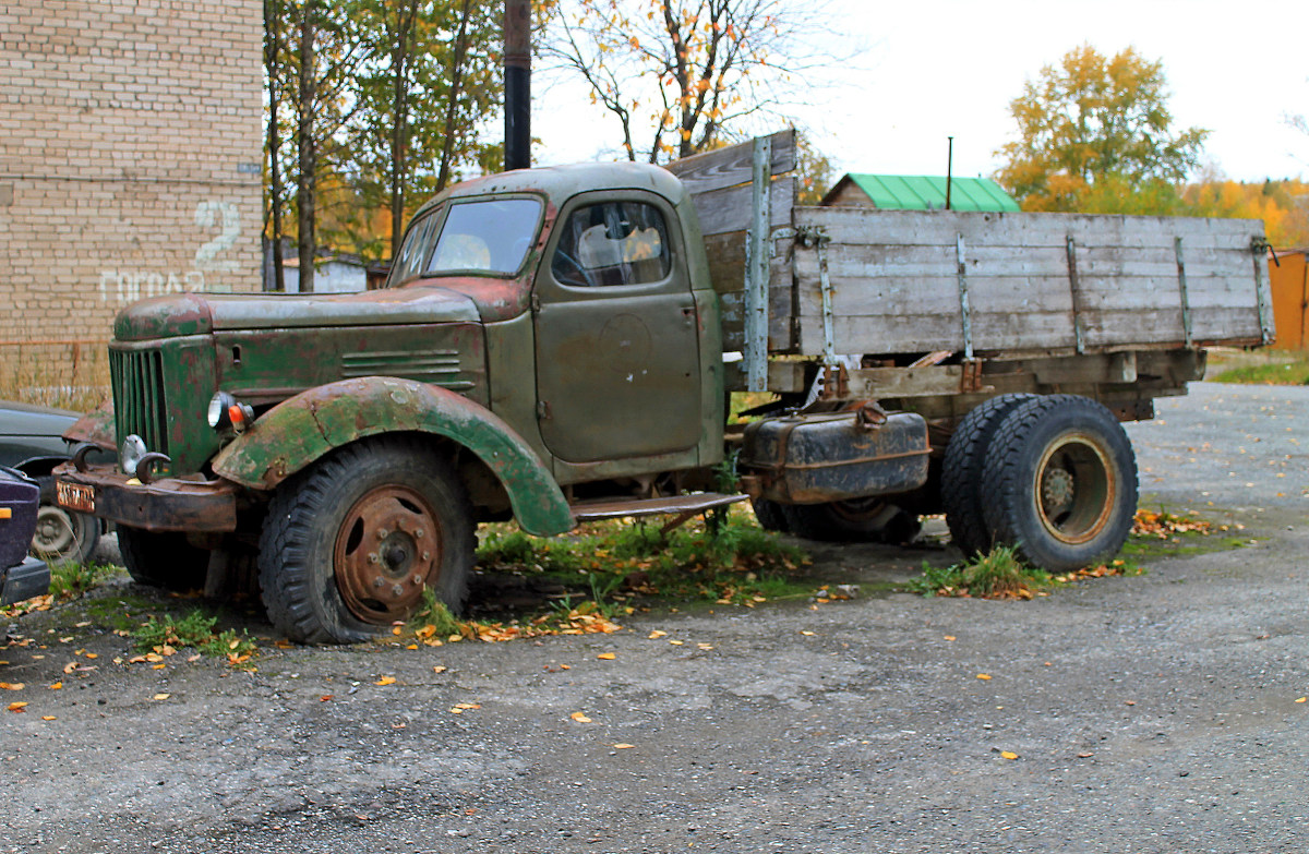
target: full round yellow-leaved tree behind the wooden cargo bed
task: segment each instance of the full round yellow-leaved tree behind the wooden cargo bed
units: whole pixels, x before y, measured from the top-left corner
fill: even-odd
[[[1175,131],[1162,63],[1089,45],[1046,65],[1009,102],[1017,139],[999,181],[1028,211],[1174,214],[1208,131]]]

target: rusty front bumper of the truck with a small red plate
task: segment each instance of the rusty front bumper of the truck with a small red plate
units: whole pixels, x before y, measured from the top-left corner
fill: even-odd
[[[145,485],[107,465],[79,472],[65,462],[55,469],[60,507],[143,530],[236,530],[240,489],[232,481],[185,477]]]

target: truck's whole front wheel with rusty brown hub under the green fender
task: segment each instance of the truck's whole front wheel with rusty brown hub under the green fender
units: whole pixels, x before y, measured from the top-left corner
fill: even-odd
[[[471,510],[450,466],[416,440],[347,445],[278,487],[259,538],[274,626],[352,643],[408,620],[431,588],[458,612],[474,559]]]

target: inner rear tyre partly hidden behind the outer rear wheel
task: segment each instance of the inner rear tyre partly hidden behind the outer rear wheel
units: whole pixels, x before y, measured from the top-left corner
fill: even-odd
[[[1035,399],[1035,394],[1000,394],[974,406],[950,441],[941,465],[941,507],[950,540],[971,558],[991,549],[991,532],[982,512],[982,469],[991,436],[1014,407]]]

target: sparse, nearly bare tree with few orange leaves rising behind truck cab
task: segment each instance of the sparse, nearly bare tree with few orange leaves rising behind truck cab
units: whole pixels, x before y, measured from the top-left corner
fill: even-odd
[[[543,59],[577,75],[618,122],[630,160],[662,162],[787,123],[817,62],[813,4],[792,0],[546,0]],[[767,118],[764,118],[767,117]]]

